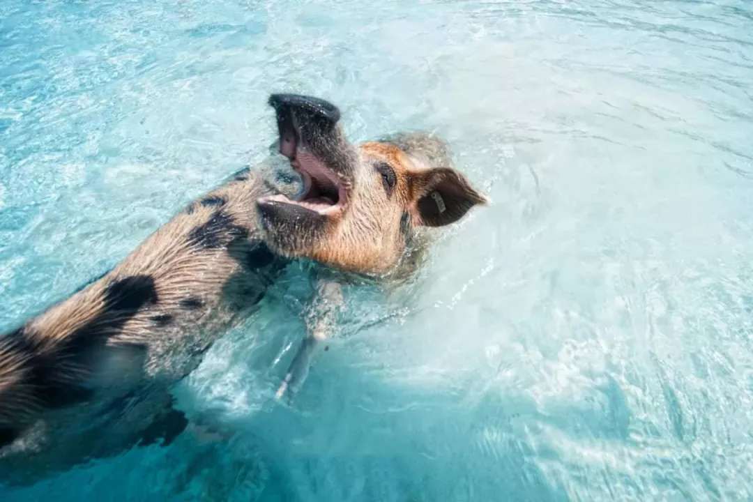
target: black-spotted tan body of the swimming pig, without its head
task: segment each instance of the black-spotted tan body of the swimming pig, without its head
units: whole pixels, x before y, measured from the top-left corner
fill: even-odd
[[[239,172],[105,276],[0,336],[6,480],[182,431],[171,386],[255,309],[288,261],[267,248],[257,224],[256,199],[294,196],[299,185],[279,184],[274,167]]]

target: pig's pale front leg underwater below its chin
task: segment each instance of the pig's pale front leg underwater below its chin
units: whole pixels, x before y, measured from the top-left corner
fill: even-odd
[[[336,327],[337,310],[343,305],[343,294],[340,284],[335,281],[320,279],[317,283],[317,294],[312,302],[309,315],[306,316],[306,337],[300,345],[288,373],[282,379],[277,389],[276,398],[282,399],[287,392],[294,396],[309,375],[309,370],[319,349],[329,337],[333,336]]]

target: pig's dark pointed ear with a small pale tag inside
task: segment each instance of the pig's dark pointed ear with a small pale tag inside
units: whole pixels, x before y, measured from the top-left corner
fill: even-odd
[[[410,205],[416,227],[444,227],[465,216],[474,205],[489,199],[476,190],[462,174],[449,167],[418,172],[414,178],[415,197]]]

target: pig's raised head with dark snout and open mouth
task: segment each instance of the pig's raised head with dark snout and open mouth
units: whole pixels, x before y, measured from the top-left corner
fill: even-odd
[[[416,234],[462,218],[486,204],[450,167],[444,141],[411,133],[355,147],[340,111],[321,99],[270,97],[279,151],[303,180],[296,199],[258,199],[267,245],[346,272],[385,275],[401,265]]]

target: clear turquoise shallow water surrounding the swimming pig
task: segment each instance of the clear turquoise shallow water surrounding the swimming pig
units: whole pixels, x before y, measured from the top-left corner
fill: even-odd
[[[273,90],[436,129],[495,202],[292,409],[283,299],[178,390],[233,442],[3,500],[753,497],[753,8],[372,3],[0,3],[2,329],[264,157]]]

